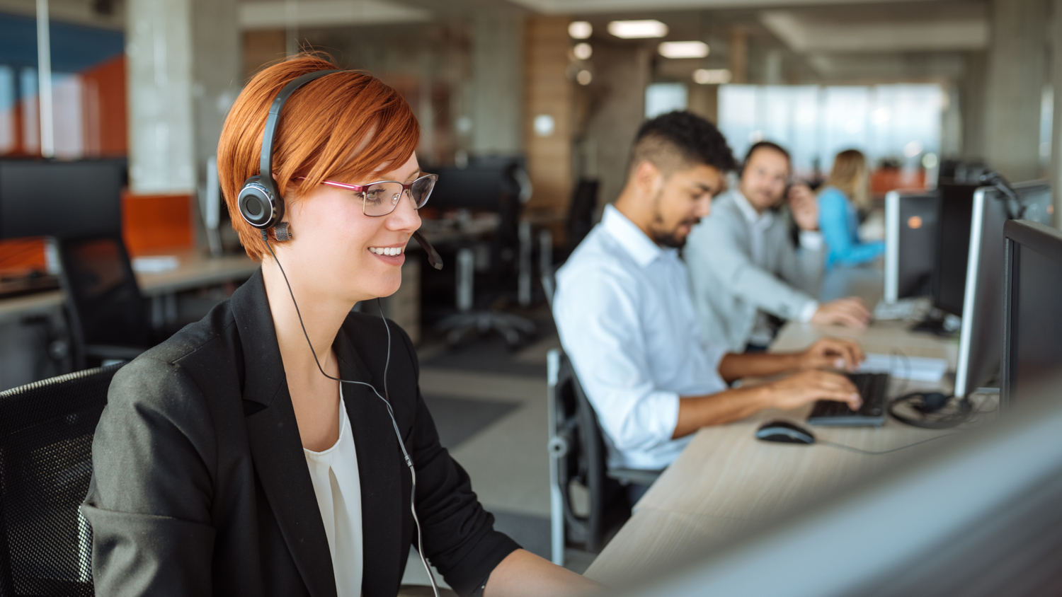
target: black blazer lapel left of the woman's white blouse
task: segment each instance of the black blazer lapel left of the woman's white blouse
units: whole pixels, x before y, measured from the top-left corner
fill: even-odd
[[[336,576],[310,480],[261,270],[233,295],[243,349],[243,411],[255,471],[295,567],[313,597],[336,597]]]

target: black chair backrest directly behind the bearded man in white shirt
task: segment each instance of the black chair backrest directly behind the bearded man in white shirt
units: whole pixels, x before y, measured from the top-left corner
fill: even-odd
[[[551,392],[554,420],[550,424],[567,446],[558,463],[565,526],[571,541],[584,544],[587,551],[598,551],[604,546],[610,528],[631,515],[630,503],[619,482],[609,476],[604,438],[594,407],[583,392],[571,362],[563,351],[558,352],[560,366]],[[577,513],[571,503],[569,485],[572,481],[588,491],[586,513]]]

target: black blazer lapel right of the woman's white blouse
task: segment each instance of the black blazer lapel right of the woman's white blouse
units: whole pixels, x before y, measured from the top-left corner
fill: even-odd
[[[340,329],[335,349],[342,379],[371,384],[383,396],[383,381],[372,375],[347,337],[345,327]],[[346,383],[343,402],[358,452],[361,482],[362,594],[393,595],[409,552],[409,545],[402,544],[406,537],[402,511],[409,507],[412,487],[409,470],[383,401],[369,387]]]

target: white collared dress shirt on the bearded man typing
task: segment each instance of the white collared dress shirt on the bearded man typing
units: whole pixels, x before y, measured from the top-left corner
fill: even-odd
[[[604,429],[610,467],[663,469],[689,437],[671,439],[681,396],[726,389],[725,349],[701,335],[686,267],[616,208],[556,274],[553,316]]]

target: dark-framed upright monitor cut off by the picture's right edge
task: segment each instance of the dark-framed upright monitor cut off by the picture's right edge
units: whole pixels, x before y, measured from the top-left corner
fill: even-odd
[[[1035,222],[1004,228],[1000,405],[1062,373],[1062,232]]]

